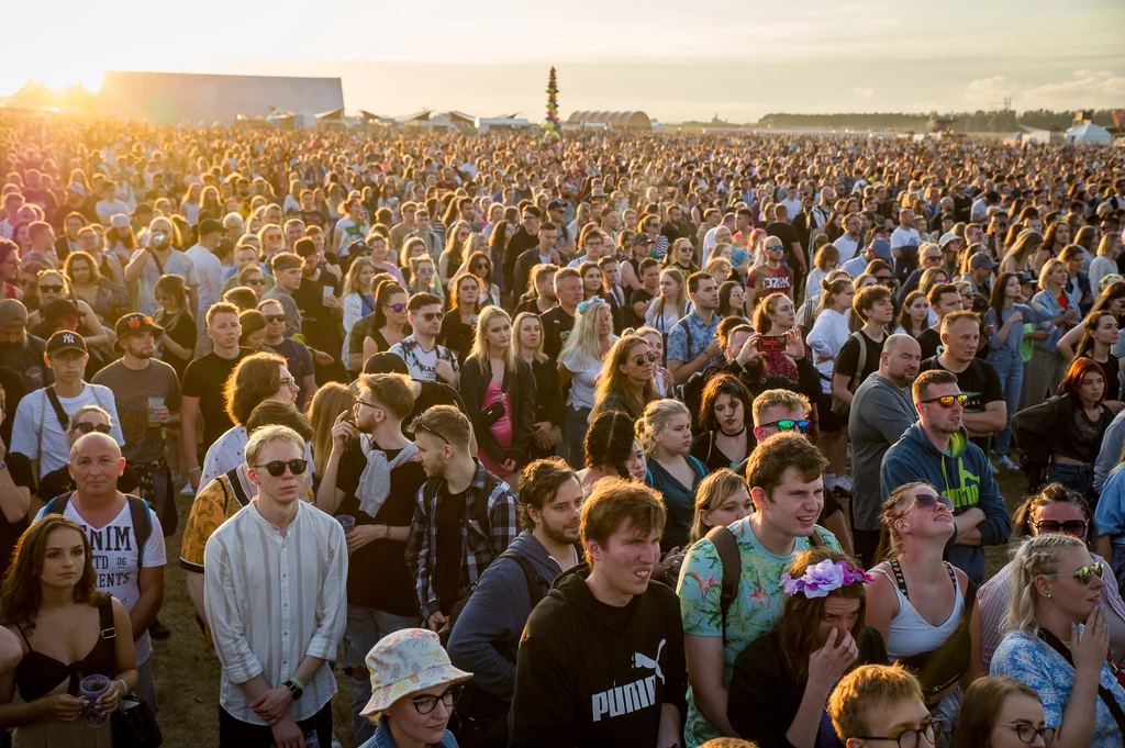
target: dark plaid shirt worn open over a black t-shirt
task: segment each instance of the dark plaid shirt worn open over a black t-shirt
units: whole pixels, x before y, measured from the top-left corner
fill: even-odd
[[[501,480],[496,480],[492,493],[485,495],[485,466],[474,458],[477,472],[472,476],[469,488],[465,492],[465,523],[461,525],[461,580],[471,587],[484,574],[497,556],[507,550],[515,537],[520,534],[515,507],[519,503],[515,492]],[[426,501],[426,486],[436,481],[438,490],[433,498]],[[414,587],[422,610],[422,621],[438,612],[438,595],[433,591],[433,570],[436,567],[438,549],[438,502],[448,495],[444,478],[426,481],[418,489],[414,506],[414,520],[411,523],[411,537],[406,543],[406,567],[414,577]],[[480,526],[477,517],[480,512],[477,502],[485,502],[488,507],[489,533]],[[469,534],[475,538],[470,539]]]

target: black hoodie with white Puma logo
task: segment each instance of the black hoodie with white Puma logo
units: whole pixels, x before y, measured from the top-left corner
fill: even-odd
[[[663,705],[686,709],[676,594],[650,582],[615,607],[594,597],[588,576],[585,565],[560,575],[528,619],[508,718],[513,748],[655,746]]]

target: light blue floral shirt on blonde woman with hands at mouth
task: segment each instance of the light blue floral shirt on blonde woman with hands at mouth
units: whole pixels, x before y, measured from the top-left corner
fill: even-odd
[[[1033,688],[1043,702],[1044,726],[1058,728],[1062,724],[1062,713],[1074,686],[1074,667],[1047,642],[1023,631],[1012,631],[992,655],[989,675],[1015,678]],[[1125,706],[1125,690],[1118,685],[1108,663],[1101,666],[1099,681],[1102,687],[1113,692],[1117,703]],[[1120,748],[1122,733],[1109,708],[1100,697],[1096,708],[1090,747]]]

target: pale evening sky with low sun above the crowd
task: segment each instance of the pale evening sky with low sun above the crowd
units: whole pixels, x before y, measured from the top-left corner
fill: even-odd
[[[349,112],[663,121],[1125,107],[1123,0],[89,0],[12,3],[0,97],[106,70],[339,76]]]

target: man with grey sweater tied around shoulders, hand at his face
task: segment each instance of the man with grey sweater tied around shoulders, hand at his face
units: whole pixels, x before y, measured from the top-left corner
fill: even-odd
[[[341,665],[351,678],[356,745],[375,735],[360,712],[371,697],[367,652],[389,633],[418,623],[414,579],[403,560],[414,497],[425,471],[403,435],[414,407],[405,375],[360,375],[359,397],[332,426],[332,453],[316,492],[317,507],[356,521],[348,531],[348,628]],[[371,569],[379,569],[372,575]]]

